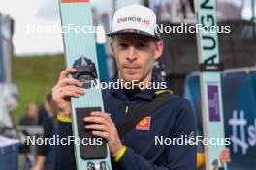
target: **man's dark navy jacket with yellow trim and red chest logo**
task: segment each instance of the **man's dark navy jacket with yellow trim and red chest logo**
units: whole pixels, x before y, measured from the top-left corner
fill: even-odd
[[[130,99],[120,89],[103,90],[105,111],[110,113],[115,125],[122,124],[133,111],[155,97],[155,90],[146,89]],[[128,106],[128,110],[127,110]],[[127,111],[127,113],[125,113]],[[195,112],[190,101],[176,97],[150,113],[149,130],[131,129],[122,139],[127,146],[125,154],[113,170],[194,170],[196,146],[155,145],[155,136],[177,138],[196,131]],[[148,127],[147,127],[148,128]],[[58,135],[72,135],[71,124],[59,122]],[[75,170],[73,145],[57,147],[57,169]]]

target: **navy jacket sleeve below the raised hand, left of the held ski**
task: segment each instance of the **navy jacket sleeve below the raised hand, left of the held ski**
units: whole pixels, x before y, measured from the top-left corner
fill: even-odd
[[[68,139],[73,136],[70,123],[58,121],[57,135],[59,139]],[[63,140],[64,141],[64,140]],[[74,153],[74,143],[56,146],[56,170],[76,170],[76,160]]]

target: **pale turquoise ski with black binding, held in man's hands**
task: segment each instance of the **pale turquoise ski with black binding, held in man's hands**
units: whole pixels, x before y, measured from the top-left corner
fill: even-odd
[[[72,98],[72,129],[78,170],[111,170],[110,151],[106,141],[97,144],[97,138],[85,130],[83,118],[92,111],[104,111],[102,92],[93,88],[99,83],[93,19],[89,0],[60,0],[60,15],[66,67],[77,69],[70,75],[83,82],[85,96]],[[87,139],[87,140],[84,140]],[[82,144],[82,141],[87,143]]]

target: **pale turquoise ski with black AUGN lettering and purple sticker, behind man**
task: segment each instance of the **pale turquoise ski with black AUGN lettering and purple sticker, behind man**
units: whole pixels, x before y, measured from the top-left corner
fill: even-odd
[[[215,0],[194,2],[197,23],[201,24],[202,28],[206,26],[197,33],[204,137],[222,140],[225,138],[220,76],[223,65],[219,59],[216,2]],[[205,145],[207,170],[224,168],[218,160],[224,148],[225,146],[221,144]]]

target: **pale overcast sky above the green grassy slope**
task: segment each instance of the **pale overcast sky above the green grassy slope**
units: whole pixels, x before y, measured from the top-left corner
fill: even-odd
[[[138,1],[119,0],[117,6],[138,3]],[[112,0],[91,0],[91,2],[99,12],[110,12],[112,8]],[[59,25],[58,0],[0,0],[0,12],[10,14],[15,19],[14,45],[17,55],[63,51],[61,33],[33,34],[28,29],[33,25],[43,27]],[[247,10],[245,13],[250,12]]]

